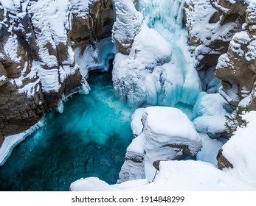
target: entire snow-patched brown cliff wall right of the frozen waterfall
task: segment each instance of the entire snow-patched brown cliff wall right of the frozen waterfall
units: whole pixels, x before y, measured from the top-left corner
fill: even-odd
[[[203,90],[218,92],[216,76],[229,104],[255,110],[255,1],[186,1],[185,17]]]

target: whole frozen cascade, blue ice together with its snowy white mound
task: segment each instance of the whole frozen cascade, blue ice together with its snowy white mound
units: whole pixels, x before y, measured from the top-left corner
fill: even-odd
[[[136,26],[135,31],[139,32],[130,52],[125,54],[120,49],[117,53],[113,69],[117,96],[128,104],[139,107],[196,103],[201,82],[187,46],[187,30],[182,27],[183,4],[184,1],[137,1],[143,23]],[[132,6],[131,13],[139,16]],[[119,18],[126,22],[126,16]],[[120,31],[122,26],[120,21],[114,24]]]

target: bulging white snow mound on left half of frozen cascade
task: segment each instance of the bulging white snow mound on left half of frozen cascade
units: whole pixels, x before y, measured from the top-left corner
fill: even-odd
[[[165,38],[143,24],[134,38],[130,54],[127,56],[118,53],[115,56],[113,82],[117,96],[123,101],[127,99],[131,106],[141,106],[151,92],[150,85],[145,80],[147,75],[151,74],[156,65],[170,61],[170,56],[170,46]]]

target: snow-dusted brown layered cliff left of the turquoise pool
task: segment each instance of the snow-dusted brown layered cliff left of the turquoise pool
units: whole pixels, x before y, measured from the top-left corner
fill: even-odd
[[[88,91],[74,49],[111,35],[109,1],[1,1],[0,145],[35,124],[63,94]]]

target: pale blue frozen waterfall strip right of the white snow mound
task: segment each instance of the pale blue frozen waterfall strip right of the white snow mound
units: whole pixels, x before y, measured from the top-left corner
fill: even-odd
[[[193,105],[201,92],[201,82],[187,46],[183,8],[184,0],[139,0],[136,4],[136,9],[142,12],[148,26],[159,32],[172,48],[173,63],[166,69],[166,73],[170,74],[170,70],[176,70],[173,76],[178,77],[179,73],[182,76],[182,79],[167,79],[176,86],[164,88],[159,92],[159,105],[174,106],[179,102]],[[166,93],[170,96],[167,97]]]

